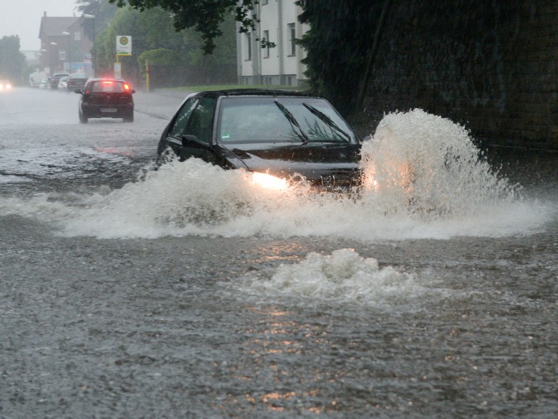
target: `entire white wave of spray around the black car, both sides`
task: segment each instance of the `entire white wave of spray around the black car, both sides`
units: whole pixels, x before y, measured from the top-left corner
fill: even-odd
[[[386,115],[362,150],[357,200],[266,189],[248,172],[172,161],[121,189],[12,198],[0,214],[38,217],[63,235],[220,235],[353,240],[499,237],[534,233],[554,214],[493,172],[462,126],[421,110]]]

